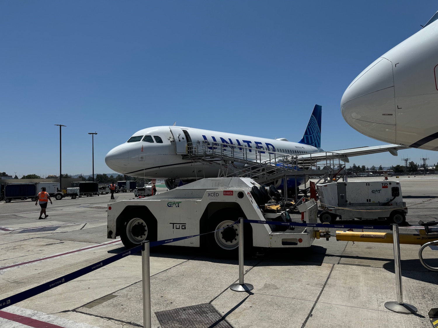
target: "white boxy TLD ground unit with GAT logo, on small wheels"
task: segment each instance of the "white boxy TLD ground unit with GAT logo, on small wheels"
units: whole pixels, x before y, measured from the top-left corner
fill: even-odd
[[[408,209],[399,181],[331,182],[316,185],[322,223],[336,219],[378,219],[406,222]]]

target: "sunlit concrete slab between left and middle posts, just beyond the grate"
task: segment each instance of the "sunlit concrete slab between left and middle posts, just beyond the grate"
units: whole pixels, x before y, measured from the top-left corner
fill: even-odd
[[[250,269],[250,266],[245,266],[245,269]],[[154,313],[209,303],[236,279],[236,261],[211,262],[203,261],[201,258],[186,261],[151,277],[151,311]],[[142,324],[141,282],[114,294],[118,297],[92,309],[81,307],[77,311]],[[176,297],[177,295],[179,297]],[[153,322],[154,325],[159,325],[155,315]]]

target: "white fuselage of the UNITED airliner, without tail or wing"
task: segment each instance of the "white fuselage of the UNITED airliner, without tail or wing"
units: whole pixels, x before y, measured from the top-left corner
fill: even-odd
[[[135,138],[137,136],[138,138]],[[159,139],[155,137],[159,137]],[[144,141],[145,139],[152,142]],[[161,142],[157,143],[156,139]],[[255,154],[265,154],[269,151],[291,155],[323,151],[321,148],[303,143],[184,126],[155,126],[142,129],[134,133],[130,140],[110,150],[105,161],[116,172],[141,178],[197,179],[217,177],[217,168],[182,158],[181,155],[186,154],[187,141],[189,143],[205,143],[207,141],[211,144],[210,149],[214,147],[214,142],[229,143],[237,147],[250,147],[248,153],[253,153],[254,158]]]

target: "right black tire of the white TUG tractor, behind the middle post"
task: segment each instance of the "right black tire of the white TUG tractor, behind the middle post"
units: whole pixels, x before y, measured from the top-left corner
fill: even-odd
[[[209,253],[218,257],[236,258],[239,250],[239,223],[234,224],[240,217],[246,216],[240,209],[224,208],[213,213],[208,219],[207,231],[222,230],[207,234],[206,243]],[[252,228],[250,223],[244,223],[244,251],[251,252]]]

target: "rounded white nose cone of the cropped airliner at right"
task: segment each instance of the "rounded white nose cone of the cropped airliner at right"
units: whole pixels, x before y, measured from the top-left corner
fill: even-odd
[[[347,87],[341,100],[345,121],[372,138],[396,142],[392,63],[378,58]]]

